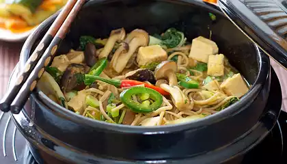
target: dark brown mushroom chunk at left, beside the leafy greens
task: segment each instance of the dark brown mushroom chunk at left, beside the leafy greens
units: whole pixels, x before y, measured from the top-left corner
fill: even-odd
[[[87,68],[82,64],[70,64],[61,77],[61,90],[66,93],[77,88],[78,90],[84,89],[83,74]]]

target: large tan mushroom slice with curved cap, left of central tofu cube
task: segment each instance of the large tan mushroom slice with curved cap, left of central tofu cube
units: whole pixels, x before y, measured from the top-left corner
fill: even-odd
[[[114,59],[112,66],[116,72],[122,72],[128,64],[128,60],[131,59],[134,53],[137,52],[140,46],[147,46],[149,42],[149,36],[146,31],[142,29],[135,29],[132,31],[125,40],[128,43],[129,50],[127,53],[120,53],[118,59]],[[114,55],[115,56],[115,55]]]

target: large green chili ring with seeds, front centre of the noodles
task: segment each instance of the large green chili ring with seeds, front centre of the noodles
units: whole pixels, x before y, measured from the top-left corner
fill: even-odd
[[[139,95],[142,93],[150,94],[149,98],[152,99],[152,104],[142,104],[133,100],[133,95]],[[128,90],[124,90],[124,92],[120,94],[120,100],[124,105],[126,105],[126,107],[136,113],[149,113],[159,109],[163,104],[163,96],[159,94],[159,92],[156,92],[155,90],[152,90],[148,87],[131,87]]]

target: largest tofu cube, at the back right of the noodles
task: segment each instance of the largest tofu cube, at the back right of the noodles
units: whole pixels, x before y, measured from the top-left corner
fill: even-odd
[[[191,52],[189,57],[207,63],[209,55],[218,53],[218,46],[212,40],[208,40],[202,36],[192,40]]]

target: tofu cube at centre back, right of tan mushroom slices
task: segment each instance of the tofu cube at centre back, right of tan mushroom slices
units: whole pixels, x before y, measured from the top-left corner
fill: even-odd
[[[137,53],[137,64],[146,66],[152,62],[167,60],[167,52],[159,45],[145,46],[139,48]]]

